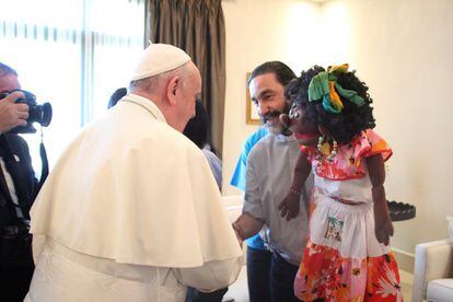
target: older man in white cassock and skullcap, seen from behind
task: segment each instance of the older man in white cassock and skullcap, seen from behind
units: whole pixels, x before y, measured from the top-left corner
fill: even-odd
[[[150,45],[129,94],[63,152],[31,211],[36,269],[24,301],[184,301],[224,288],[242,251],[202,152],[181,133],[201,78]]]

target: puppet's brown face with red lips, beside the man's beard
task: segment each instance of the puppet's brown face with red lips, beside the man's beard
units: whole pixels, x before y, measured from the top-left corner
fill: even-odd
[[[289,124],[289,128],[294,132],[294,137],[300,144],[315,146],[317,143],[320,138],[318,128],[304,118],[302,108],[295,103],[291,106],[289,115],[282,117],[282,119],[287,119],[284,124]]]

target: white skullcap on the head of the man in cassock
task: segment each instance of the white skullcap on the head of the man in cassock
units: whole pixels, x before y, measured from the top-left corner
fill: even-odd
[[[190,57],[173,45],[151,44],[143,50],[130,80],[150,78],[178,68],[188,61]]]

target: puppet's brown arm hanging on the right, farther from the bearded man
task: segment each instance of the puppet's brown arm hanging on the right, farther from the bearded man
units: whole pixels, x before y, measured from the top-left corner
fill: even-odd
[[[390,218],[384,189],[384,160],[381,154],[374,154],[367,158],[367,165],[373,186],[374,233],[380,243],[388,245],[390,236],[393,236],[393,224]]]

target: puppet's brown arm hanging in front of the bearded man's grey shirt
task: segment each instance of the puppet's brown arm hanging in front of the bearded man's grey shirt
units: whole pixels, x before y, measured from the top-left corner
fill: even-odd
[[[295,164],[291,187],[278,207],[281,217],[287,217],[287,220],[290,220],[299,214],[301,194],[303,191],[305,181],[310,175],[311,167],[312,166],[306,159],[306,154],[301,152],[298,158],[298,163]],[[304,199],[306,200],[306,198]]]

